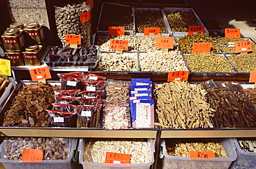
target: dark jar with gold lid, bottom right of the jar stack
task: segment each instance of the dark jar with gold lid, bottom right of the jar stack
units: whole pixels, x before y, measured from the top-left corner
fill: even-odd
[[[40,66],[42,46],[30,46],[26,48],[25,52],[22,52],[22,56],[26,66]]]

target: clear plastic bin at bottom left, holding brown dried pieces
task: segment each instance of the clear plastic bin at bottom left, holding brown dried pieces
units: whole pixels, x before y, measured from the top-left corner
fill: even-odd
[[[6,148],[8,137],[6,137],[0,146],[0,163],[3,163],[3,166],[6,169],[24,169],[24,168],[30,168],[30,169],[71,169],[71,158],[73,155],[73,152],[77,145],[77,139],[71,139],[69,138],[69,143],[71,143],[71,148],[69,149],[68,158],[67,159],[60,159],[60,160],[43,160],[42,163],[25,163],[21,162],[21,160],[11,160],[11,159],[4,159],[4,151]]]

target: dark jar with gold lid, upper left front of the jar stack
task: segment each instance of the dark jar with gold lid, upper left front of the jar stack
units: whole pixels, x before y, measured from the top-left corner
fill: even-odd
[[[17,28],[5,30],[1,39],[6,51],[21,51],[25,45],[24,35]]]

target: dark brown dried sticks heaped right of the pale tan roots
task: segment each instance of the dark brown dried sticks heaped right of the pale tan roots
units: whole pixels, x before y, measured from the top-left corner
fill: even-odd
[[[234,82],[206,81],[201,83],[210,108],[216,110],[212,123],[217,128],[255,128],[256,110],[246,92]]]

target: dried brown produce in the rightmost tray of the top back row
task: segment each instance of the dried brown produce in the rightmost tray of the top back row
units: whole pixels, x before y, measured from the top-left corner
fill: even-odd
[[[195,17],[192,11],[176,10],[171,12],[165,10],[165,15],[170,24],[172,32],[188,32],[188,26],[196,26]]]

